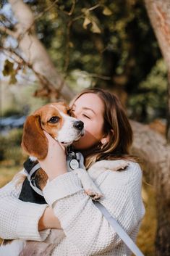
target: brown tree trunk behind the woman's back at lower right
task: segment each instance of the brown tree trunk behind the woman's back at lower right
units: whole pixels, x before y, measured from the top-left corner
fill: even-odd
[[[148,125],[131,122],[134,131],[132,153],[143,161],[144,176],[156,187],[156,255],[170,255],[170,146]],[[145,241],[147,243],[147,241]]]

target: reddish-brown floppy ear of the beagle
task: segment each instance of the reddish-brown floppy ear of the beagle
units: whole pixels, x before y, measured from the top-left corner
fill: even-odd
[[[27,154],[41,160],[47,155],[48,140],[43,133],[39,119],[39,115],[30,115],[27,117],[21,146]]]

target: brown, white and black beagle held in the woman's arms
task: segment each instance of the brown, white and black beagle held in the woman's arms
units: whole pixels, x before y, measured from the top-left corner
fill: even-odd
[[[55,140],[59,141],[65,147],[72,144],[73,141],[80,139],[85,134],[84,124],[71,115],[69,107],[63,102],[46,104],[36,110],[33,115],[27,117],[22,136],[22,149],[30,155],[28,162],[25,162],[25,169],[29,173],[33,166],[39,160],[43,160],[48,152],[48,140],[43,131],[50,134]],[[121,165],[115,166],[115,170],[125,168],[127,162],[122,161]],[[86,194],[95,200],[102,197],[101,191],[90,178],[88,172],[83,168],[74,170],[79,176],[82,187]],[[27,176],[24,177],[20,199],[27,202],[46,203],[45,199],[38,195],[33,188]],[[43,190],[48,181],[45,171],[39,168],[34,175],[34,181],[39,190]],[[0,248],[1,256],[45,256],[50,255],[56,244],[64,237],[61,230],[51,229],[51,233],[46,241],[23,241],[23,240],[4,240]]]

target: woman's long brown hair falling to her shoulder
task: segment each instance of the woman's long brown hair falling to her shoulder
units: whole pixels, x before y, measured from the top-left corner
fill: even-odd
[[[101,88],[88,88],[81,91],[72,100],[71,106],[82,94],[97,94],[102,100],[104,104],[103,133],[109,134],[109,143],[104,146],[98,144],[85,157],[85,167],[89,168],[99,160],[126,159],[134,161],[135,158],[129,155],[129,147],[132,145],[132,128],[117,96]]]

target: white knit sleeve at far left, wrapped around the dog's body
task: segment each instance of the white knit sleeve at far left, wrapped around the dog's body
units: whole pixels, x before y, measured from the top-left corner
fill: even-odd
[[[0,189],[0,237],[43,241],[49,230],[38,232],[38,221],[48,205],[22,202],[21,187],[12,180]]]

